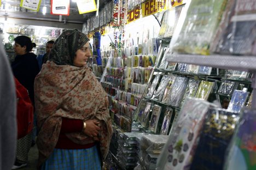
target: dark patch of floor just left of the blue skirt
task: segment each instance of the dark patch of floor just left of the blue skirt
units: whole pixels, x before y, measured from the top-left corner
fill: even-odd
[[[27,167],[20,168],[21,170],[36,170],[37,169],[37,159],[38,159],[38,149],[37,145],[30,148],[28,153],[28,165]]]

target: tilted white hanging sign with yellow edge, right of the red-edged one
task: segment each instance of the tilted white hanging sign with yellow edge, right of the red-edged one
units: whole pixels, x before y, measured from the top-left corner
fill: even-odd
[[[77,8],[79,14],[90,13],[97,10],[95,0],[77,0]]]

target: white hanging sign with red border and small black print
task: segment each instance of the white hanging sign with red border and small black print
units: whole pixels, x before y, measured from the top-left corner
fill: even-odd
[[[69,15],[69,0],[51,0],[51,14]]]

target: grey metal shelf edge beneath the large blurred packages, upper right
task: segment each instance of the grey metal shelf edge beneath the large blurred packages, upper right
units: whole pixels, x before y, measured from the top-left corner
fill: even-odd
[[[256,71],[256,56],[202,56],[191,54],[171,54],[171,56],[167,57],[167,61],[212,66],[220,69]]]

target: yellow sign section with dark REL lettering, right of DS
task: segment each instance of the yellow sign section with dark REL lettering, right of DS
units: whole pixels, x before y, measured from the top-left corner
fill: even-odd
[[[142,3],[142,16],[149,16],[166,10],[166,0],[149,0]]]

